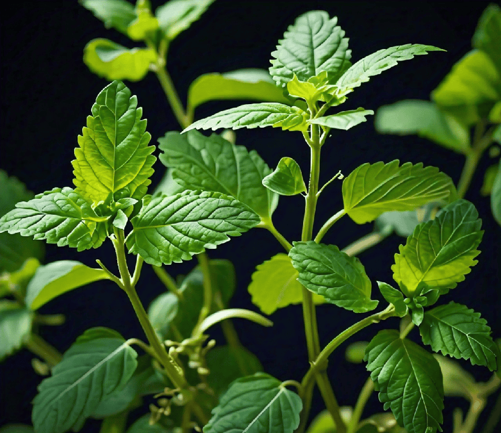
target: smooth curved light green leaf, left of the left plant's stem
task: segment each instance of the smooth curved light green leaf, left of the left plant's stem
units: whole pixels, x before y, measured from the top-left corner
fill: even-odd
[[[109,279],[102,269],[93,269],[74,260],[60,260],[40,266],[28,284],[25,302],[39,309],[63,293],[98,280]]]

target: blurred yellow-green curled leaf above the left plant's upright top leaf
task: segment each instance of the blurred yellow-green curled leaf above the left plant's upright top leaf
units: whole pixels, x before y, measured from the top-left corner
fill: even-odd
[[[156,61],[149,48],[126,48],[108,39],[90,41],[84,48],[84,63],[99,77],[107,80],[142,80]]]

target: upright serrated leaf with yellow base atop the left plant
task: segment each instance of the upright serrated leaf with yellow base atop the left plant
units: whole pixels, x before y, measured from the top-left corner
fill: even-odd
[[[72,161],[73,183],[94,203],[124,197],[141,199],[153,174],[154,146],[137,98],[120,81],[106,86],[92,106]]]

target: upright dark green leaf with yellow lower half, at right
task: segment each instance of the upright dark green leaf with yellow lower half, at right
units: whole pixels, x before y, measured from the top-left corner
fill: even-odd
[[[480,227],[470,202],[461,199],[447,205],[433,221],[419,224],[405,246],[400,245],[391,267],[393,279],[409,297],[426,288],[447,293],[477,263],[473,259],[479,254]]]

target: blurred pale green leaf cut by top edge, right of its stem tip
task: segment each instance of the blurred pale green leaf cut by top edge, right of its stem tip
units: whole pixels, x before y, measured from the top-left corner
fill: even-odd
[[[172,41],[197,21],[214,0],[170,0],[155,11],[160,28]]]

